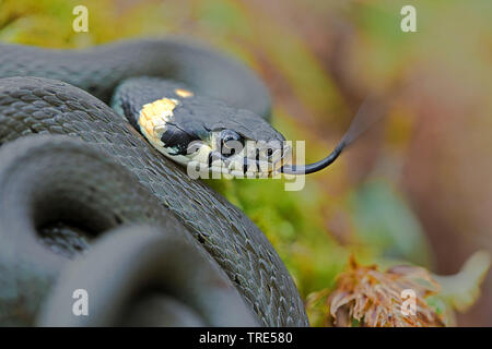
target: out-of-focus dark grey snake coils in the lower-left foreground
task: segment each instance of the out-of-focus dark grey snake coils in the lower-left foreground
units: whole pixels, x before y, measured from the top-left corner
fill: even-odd
[[[0,205],[1,326],[258,324],[189,230],[81,140],[30,135],[2,146]],[[54,221],[78,229],[49,229]],[[81,288],[87,316],[72,313]]]

